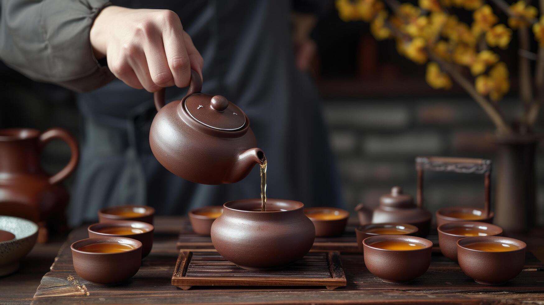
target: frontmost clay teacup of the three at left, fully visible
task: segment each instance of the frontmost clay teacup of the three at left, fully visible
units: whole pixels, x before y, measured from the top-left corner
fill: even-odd
[[[119,253],[92,253],[79,248],[101,242],[118,242],[134,249]],[[95,237],[72,243],[73,267],[78,276],[100,284],[119,283],[138,272],[141,265],[141,242],[126,237]]]

